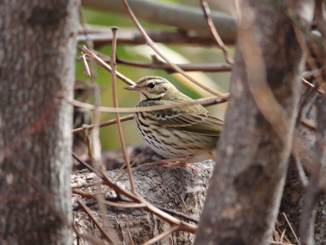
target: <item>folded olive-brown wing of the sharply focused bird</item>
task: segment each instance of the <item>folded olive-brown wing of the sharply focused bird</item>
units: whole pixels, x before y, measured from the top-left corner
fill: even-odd
[[[150,113],[156,117],[155,121],[159,127],[195,134],[220,136],[224,125],[223,120],[199,104]]]

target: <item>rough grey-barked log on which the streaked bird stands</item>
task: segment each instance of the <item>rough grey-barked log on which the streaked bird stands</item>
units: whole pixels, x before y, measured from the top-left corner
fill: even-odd
[[[208,180],[212,173],[213,161],[191,164],[191,166],[198,171],[198,175],[194,171],[184,167],[173,167],[171,169],[165,166],[138,166],[132,168],[136,190],[142,197],[154,205],[170,208],[186,214],[185,207],[180,198],[181,195],[189,210],[190,216],[198,220],[203,208]],[[111,177],[116,173],[117,170],[107,171],[107,174]],[[78,186],[99,182],[100,179],[95,174],[87,170],[82,170],[73,173],[71,181],[72,186]],[[130,190],[127,175],[118,184]],[[92,186],[86,189],[83,188],[83,190],[92,194],[101,193],[105,197],[116,197],[116,194],[112,190],[103,185],[101,187]],[[76,198],[80,198],[80,196],[73,195],[73,207],[78,206]],[[92,206],[92,212],[101,220],[97,205]],[[142,244],[170,228],[167,222],[143,209],[108,206],[105,216],[109,221],[108,223],[104,222],[105,226],[114,228],[123,244],[132,244],[128,231],[134,244]],[[74,220],[75,231],[80,236],[79,244],[92,244],[94,240],[104,242],[101,233],[93,225],[84,211],[81,209],[74,211]],[[192,244],[193,240],[194,234],[175,231],[159,240],[156,244]],[[77,244],[76,237],[74,243]]]

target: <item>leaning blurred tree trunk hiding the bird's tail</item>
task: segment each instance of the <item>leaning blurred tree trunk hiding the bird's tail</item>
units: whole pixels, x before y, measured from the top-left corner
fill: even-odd
[[[273,128],[257,106],[251,87],[261,84],[255,74],[261,72],[261,66],[257,70],[246,67],[248,60],[243,59],[243,54],[248,55],[248,50],[241,50],[245,46],[255,51],[257,46],[256,43],[243,45],[240,40],[231,77],[226,126],[195,244],[268,244],[280,205],[300,97],[303,54],[292,21],[282,10],[271,8],[273,4],[285,8],[281,1],[270,1],[270,5],[259,1],[249,3],[254,11],[254,40],[266,67],[263,71],[266,76],[262,78],[285,112],[288,130],[278,135],[275,125]],[[296,1],[296,7],[300,9],[300,17],[309,23],[313,3]],[[240,30],[248,37],[246,31],[250,27],[242,27],[248,28]]]

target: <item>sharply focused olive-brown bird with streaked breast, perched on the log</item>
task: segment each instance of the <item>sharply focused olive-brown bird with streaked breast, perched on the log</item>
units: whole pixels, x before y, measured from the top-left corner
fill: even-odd
[[[222,134],[223,120],[180,92],[165,78],[147,76],[124,89],[139,93],[140,101],[133,115],[135,124],[150,148],[167,158],[147,165],[181,165],[194,170],[186,163],[213,159],[216,142]],[[140,111],[148,106],[165,109]]]

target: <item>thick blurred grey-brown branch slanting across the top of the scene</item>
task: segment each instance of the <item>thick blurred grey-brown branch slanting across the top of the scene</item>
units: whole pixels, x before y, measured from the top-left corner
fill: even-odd
[[[173,26],[183,31],[196,31],[201,35],[210,37],[210,31],[207,28],[200,8],[150,0],[129,0],[128,3],[139,18]],[[120,0],[82,0],[82,5],[84,7],[126,14]],[[211,16],[223,41],[227,44],[235,43],[236,29],[233,18],[218,11],[212,11]],[[184,21],[187,19],[192,21]]]

